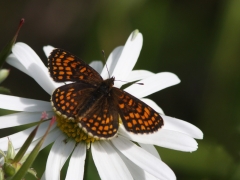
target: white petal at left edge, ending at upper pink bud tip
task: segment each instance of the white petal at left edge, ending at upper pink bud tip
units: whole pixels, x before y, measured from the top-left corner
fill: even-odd
[[[53,112],[47,112],[49,117],[53,116]],[[24,124],[30,124],[33,122],[38,122],[41,119],[40,112],[20,112],[9,114],[5,116],[0,116],[0,129],[15,127]]]

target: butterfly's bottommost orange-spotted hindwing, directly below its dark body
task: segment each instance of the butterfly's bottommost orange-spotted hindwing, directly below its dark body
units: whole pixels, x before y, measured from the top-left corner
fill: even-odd
[[[104,97],[88,113],[78,117],[82,129],[90,136],[109,139],[116,135],[119,127],[119,114],[113,101]]]

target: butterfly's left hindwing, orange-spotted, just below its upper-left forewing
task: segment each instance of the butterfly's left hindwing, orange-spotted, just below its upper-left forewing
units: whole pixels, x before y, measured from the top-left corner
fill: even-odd
[[[94,86],[83,82],[58,87],[51,97],[54,111],[66,118],[76,119],[79,111],[84,107],[94,90]]]

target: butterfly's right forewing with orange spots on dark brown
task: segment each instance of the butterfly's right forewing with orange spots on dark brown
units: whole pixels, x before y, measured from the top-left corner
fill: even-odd
[[[150,106],[120,89],[114,88],[118,112],[127,131],[135,134],[153,133],[163,126],[163,119]]]

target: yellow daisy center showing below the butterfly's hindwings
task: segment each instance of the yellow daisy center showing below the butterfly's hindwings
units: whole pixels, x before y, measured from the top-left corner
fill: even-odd
[[[94,138],[85,133],[82,128],[78,126],[75,120],[69,120],[62,116],[56,115],[57,126],[64,132],[69,138],[74,139],[76,142],[85,141],[87,144],[92,143],[99,138]]]

